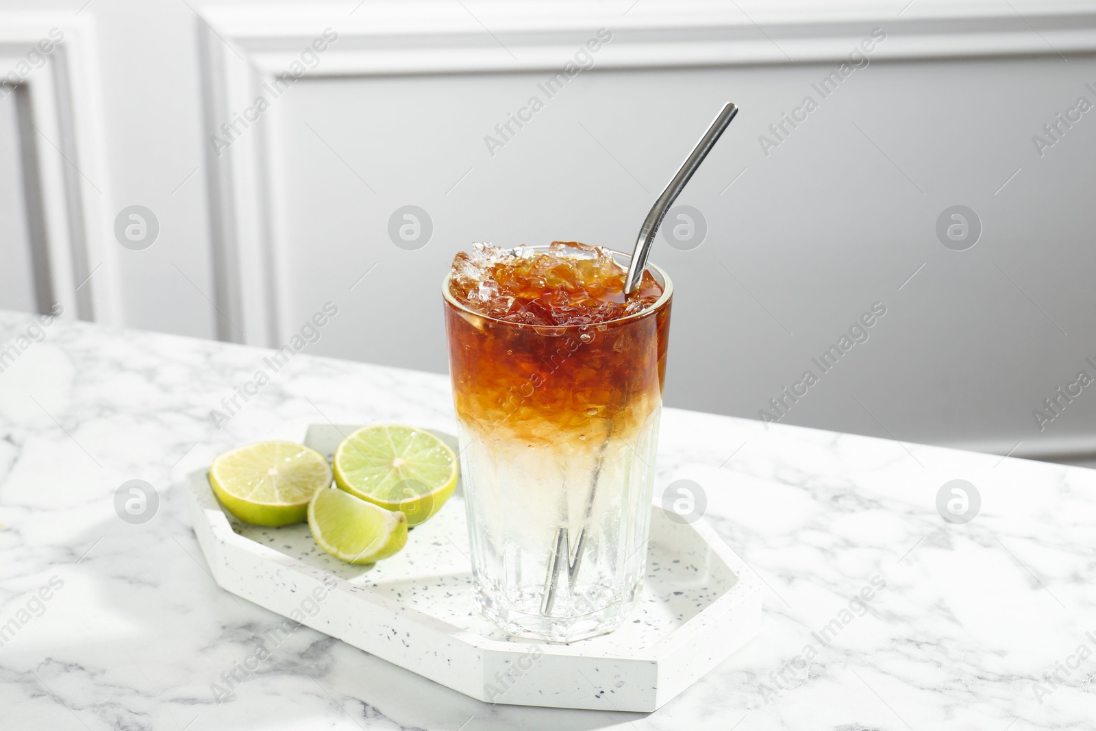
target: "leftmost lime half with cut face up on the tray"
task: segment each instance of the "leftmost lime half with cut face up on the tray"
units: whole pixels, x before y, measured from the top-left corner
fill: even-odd
[[[218,456],[209,484],[229,513],[244,523],[288,525],[308,515],[308,502],[331,486],[319,452],[293,442],[259,442]]]

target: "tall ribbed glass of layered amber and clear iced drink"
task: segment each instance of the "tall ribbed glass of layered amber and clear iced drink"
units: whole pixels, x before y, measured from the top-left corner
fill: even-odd
[[[480,609],[511,635],[612,631],[639,599],[670,279],[555,242],[459,253],[443,285]]]

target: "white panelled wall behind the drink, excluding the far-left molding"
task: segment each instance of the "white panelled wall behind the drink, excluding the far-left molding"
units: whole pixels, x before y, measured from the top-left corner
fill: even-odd
[[[81,3],[46,9],[60,18]],[[704,214],[706,240],[678,251],[660,239],[653,254],[676,286],[667,403],[756,418],[880,301],[867,342],[784,421],[1002,453],[1096,449],[1089,389],[1044,432],[1031,414],[1077,370],[1096,376],[1084,363],[1096,361],[1096,112],[1042,157],[1031,141],[1080,95],[1096,102],[1085,87],[1096,88],[1096,3],[1014,2],[1021,15],[992,2],[740,3],[767,37],[715,4],[604,3],[570,21],[483,3],[467,3],[475,18],[454,3],[407,20],[376,3],[350,15],[355,4],[198,7],[215,32],[183,3],[94,0],[80,12],[95,37],[103,194],[92,198],[111,260],[91,282],[114,293],[117,321],[273,343],[332,300],[340,316],[311,352],[444,372],[437,287],[456,251],[484,239],[630,248],[734,101],[741,114],[680,201]],[[787,22],[810,13],[827,24]],[[208,128],[329,26],[340,38],[315,78],[210,155]],[[614,38],[595,67],[492,156],[484,135],[545,98],[537,83],[600,26]],[[758,136],[806,94],[820,99],[811,83],[872,27],[888,36],[870,64],[765,155]],[[160,224],[144,251],[110,231],[133,204]],[[434,225],[416,251],[387,233],[407,204]],[[982,222],[966,251],[935,232],[956,204]]]

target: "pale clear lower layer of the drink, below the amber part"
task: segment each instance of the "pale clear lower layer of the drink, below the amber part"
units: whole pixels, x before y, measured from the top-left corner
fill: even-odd
[[[530,445],[509,429],[484,434],[459,423],[472,574],[484,615],[512,635],[556,641],[620,626],[646,570],[659,413],[594,444],[564,433],[558,443]],[[557,545],[562,550],[553,560]],[[553,566],[556,589],[546,606]]]

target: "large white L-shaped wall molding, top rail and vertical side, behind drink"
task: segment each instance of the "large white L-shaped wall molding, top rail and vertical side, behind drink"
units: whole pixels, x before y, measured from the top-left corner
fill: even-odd
[[[598,69],[840,62],[876,27],[887,42],[872,61],[1096,52],[1092,0],[902,0],[889,9],[788,0],[465,5],[370,0],[199,9],[218,338],[269,346],[293,325],[277,308],[288,274],[267,203],[276,165],[267,164],[262,118],[220,155],[209,139],[327,27],[339,41],[301,78],[558,70],[598,27],[614,34],[598,53]]]

